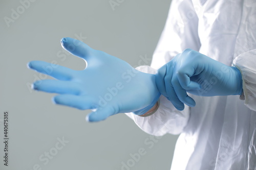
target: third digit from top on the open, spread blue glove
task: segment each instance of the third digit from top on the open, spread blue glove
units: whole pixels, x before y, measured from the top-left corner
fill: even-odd
[[[75,95],[78,95],[82,91],[78,84],[60,80],[39,80],[33,83],[32,88],[49,93]]]

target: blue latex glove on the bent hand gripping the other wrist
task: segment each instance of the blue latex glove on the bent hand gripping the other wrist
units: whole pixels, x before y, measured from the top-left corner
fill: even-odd
[[[200,96],[241,94],[242,76],[230,67],[199,52],[187,49],[158,69],[156,84],[178,110],[196,102],[187,92]]]

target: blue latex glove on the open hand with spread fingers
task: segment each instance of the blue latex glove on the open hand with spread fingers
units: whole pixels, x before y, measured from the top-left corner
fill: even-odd
[[[62,47],[84,59],[84,70],[72,70],[44,61],[31,61],[29,68],[57,80],[34,82],[35,90],[59,93],[53,102],[77,109],[91,109],[89,122],[97,122],[117,114],[150,110],[160,96],[155,75],[134,69],[125,61],[89,47],[73,38],[62,38]]]

